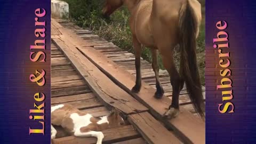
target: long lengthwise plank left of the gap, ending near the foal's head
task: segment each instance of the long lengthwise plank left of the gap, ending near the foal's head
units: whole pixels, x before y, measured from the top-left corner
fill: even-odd
[[[128,93],[113,83],[105,74],[95,67],[68,40],[70,37],[62,35],[61,39],[53,39],[67,58],[73,63],[77,71],[83,76],[94,94],[107,106],[114,106],[125,114],[138,113],[148,110]],[[114,90],[114,91],[113,91]]]

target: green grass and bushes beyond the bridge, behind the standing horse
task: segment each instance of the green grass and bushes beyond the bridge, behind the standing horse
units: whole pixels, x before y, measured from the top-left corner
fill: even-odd
[[[64,0],[69,4],[70,19],[78,26],[89,28],[100,37],[113,42],[129,52],[134,52],[132,48],[131,31],[129,28],[130,13],[125,7],[121,7],[118,11],[111,15],[111,20],[106,20],[101,17],[101,9],[103,0]],[[202,1],[202,0],[201,0]],[[202,4],[204,8],[204,4]],[[204,14],[204,9],[202,10]],[[204,85],[204,68],[205,68],[205,23],[204,17],[201,25],[201,30],[197,39],[197,61]],[[144,49],[141,57],[151,62],[151,54],[149,49]],[[179,52],[174,52],[176,66],[179,67]],[[161,57],[159,56],[159,64],[162,69]]]

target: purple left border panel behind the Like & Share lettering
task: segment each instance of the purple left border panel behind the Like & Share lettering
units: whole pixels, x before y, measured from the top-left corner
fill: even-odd
[[[46,10],[46,62],[30,61],[30,45],[34,34],[35,10]],[[0,143],[51,143],[51,1],[1,1],[0,4]],[[35,70],[46,71],[44,86],[29,80]],[[45,94],[44,135],[29,135],[29,127],[40,127],[38,121],[29,119],[29,109],[34,108],[34,94]],[[39,105],[39,102],[37,102]]]

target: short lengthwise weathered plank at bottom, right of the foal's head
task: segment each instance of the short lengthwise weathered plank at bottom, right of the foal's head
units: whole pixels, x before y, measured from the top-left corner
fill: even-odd
[[[129,115],[129,122],[142,134],[148,143],[181,143],[148,112]]]

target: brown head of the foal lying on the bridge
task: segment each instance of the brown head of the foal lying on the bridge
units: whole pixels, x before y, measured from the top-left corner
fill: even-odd
[[[108,115],[108,122],[111,128],[118,127],[125,124],[124,119],[121,117],[121,113],[114,108],[111,110],[111,113]]]

